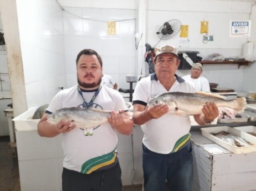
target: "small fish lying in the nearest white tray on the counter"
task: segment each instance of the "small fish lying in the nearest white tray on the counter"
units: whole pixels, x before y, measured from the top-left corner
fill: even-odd
[[[238,137],[226,131],[220,131],[219,133],[211,133],[211,134],[214,135],[215,137],[218,137],[222,141],[225,141],[230,145],[233,145],[236,147],[246,147],[246,146],[253,145],[252,143],[242,139],[241,137]]]

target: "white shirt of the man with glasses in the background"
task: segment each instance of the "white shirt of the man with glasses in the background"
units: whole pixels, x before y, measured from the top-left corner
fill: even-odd
[[[199,76],[197,79],[191,78],[191,75],[182,77],[184,80],[192,82],[196,86],[197,92],[210,92],[210,84],[206,78]]]

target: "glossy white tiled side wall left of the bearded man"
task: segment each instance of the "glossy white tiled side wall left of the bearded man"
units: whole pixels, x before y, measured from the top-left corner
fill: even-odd
[[[58,87],[66,88],[62,11],[55,0],[16,3],[30,108],[49,103]]]

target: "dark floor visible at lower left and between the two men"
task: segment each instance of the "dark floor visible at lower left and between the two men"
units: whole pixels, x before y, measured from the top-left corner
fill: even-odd
[[[0,191],[20,191],[18,158],[13,157],[9,136],[0,137]],[[142,185],[123,186],[122,191],[141,191]]]

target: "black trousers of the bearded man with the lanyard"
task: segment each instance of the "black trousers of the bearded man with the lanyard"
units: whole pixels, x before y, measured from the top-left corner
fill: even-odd
[[[119,162],[111,169],[82,174],[63,168],[63,191],[121,191],[121,168]]]

